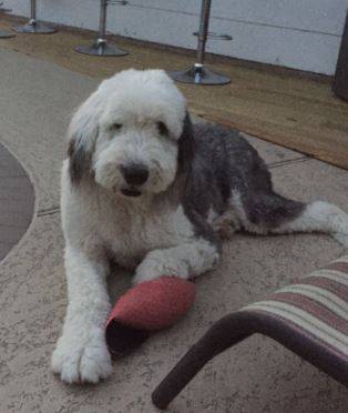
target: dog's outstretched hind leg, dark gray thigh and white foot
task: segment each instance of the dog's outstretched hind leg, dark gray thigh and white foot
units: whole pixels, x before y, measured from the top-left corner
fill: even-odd
[[[324,232],[348,246],[348,214],[328,202],[304,204],[276,193],[256,193],[243,199],[234,193],[232,204],[249,232]]]

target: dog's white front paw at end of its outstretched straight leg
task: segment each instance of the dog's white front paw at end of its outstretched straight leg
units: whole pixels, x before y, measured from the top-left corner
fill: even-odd
[[[100,338],[81,343],[76,336],[61,336],[51,366],[66,383],[98,383],[112,372],[106,343]]]

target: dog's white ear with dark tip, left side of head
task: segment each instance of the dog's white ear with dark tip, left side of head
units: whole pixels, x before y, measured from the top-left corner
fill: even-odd
[[[99,134],[99,119],[103,99],[100,89],[94,92],[73,115],[69,131],[69,173],[73,184],[79,184],[83,177],[91,177],[92,155]]]

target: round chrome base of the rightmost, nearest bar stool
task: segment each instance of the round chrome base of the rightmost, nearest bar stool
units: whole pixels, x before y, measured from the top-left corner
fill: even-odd
[[[168,73],[177,82],[194,84],[227,84],[231,79],[226,75],[215,73],[202,64],[195,64],[187,70],[174,71]]]

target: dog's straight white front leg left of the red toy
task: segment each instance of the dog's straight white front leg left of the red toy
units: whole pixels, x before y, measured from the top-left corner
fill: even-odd
[[[63,332],[52,355],[52,370],[68,383],[96,383],[111,374],[111,356],[104,339],[110,312],[106,266],[66,246],[69,304]]]

